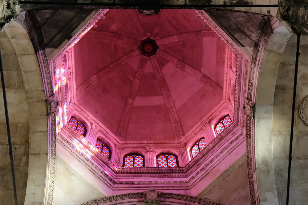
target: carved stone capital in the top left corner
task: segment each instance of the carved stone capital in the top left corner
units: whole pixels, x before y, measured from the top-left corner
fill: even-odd
[[[10,24],[19,14],[17,0],[0,0],[0,31]]]

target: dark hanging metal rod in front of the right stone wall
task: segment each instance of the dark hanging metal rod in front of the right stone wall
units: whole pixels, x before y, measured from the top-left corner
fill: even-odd
[[[298,73],[298,57],[299,57],[299,41],[301,34],[297,34],[297,48],[296,48],[296,60],[294,71],[294,87],[293,87],[293,102],[292,102],[292,121],[291,121],[291,134],[290,134],[290,148],[289,148],[289,167],[288,167],[288,182],[287,182],[287,199],[286,205],[289,205],[290,196],[290,176],[291,176],[291,162],[292,162],[292,144],[293,144],[293,132],[294,132],[294,115],[295,115],[295,102],[296,102],[296,87],[297,87],[297,73]]]

